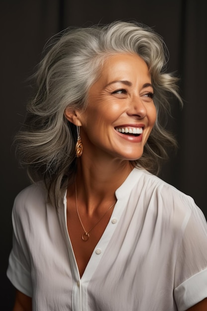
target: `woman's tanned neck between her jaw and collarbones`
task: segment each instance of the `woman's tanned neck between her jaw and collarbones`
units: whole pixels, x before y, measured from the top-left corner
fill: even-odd
[[[128,160],[92,161],[84,156],[77,160],[76,187],[78,200],[84,202],[88,213],[116,200],[115,191],[132,171]]]

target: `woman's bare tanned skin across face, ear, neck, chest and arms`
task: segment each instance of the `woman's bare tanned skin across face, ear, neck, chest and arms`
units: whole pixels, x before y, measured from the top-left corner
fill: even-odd
[[[75,186],[67,192],[67,226],[80,277],[91,253],[103,234],[116,202],[115,191],[127,178],[131,160],[143,154],[144,145],[156,120],[153,88],[145,62],[132,54],[111,56],[104,64],[100,78],[89,90],[87,109],[65,111],[66,118],[80,126],[83,154],[77,159],[77,207],[86,231],[77,216]],[[119,128],[141,128],[140,136],[125,135]],[[106,213],[106,214],[105,214]],[[13,311],[30,311],[31,298],[17,292]],[[207,300],[189,311],[207,311]]]

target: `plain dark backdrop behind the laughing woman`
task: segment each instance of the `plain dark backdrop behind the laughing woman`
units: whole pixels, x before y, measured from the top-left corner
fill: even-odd
[[[179,152],[172,152],[160,176],[191,195],[207,216],[207,2],[206,0],[1,0],[0,116],[1,310],[12,309],[14,291],[6,278],[12,245],[11,209],[14,197],[29,184],[11,147],[32,95],[26,79],[34,73],[47,40],[68,26],[88,26],[114,20],[136,20],[153,27],[166,42],[169,71],[181,78],[181,111],[172,102]]]

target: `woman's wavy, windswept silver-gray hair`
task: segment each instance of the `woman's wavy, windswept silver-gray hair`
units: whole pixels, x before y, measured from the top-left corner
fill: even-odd
[[[55,41],[55,42],[54,42]],[[50,201],[58,207],[66,180],[76,171],[75,126],[65,109],[84,110],[90,86],[101,73],[105,60],[117,53],[138,54],[147,64],[154,88],[157,119],[134,165],[158,173],[166,146],[176,146],[174,137],[161,125],[170,111],[169,94],[178,94],[177,81],[166,73],[167,48],[151,28],[136,22],[116,21],[109,25],[68,28],[47,47],[49,51],[34,75],[36,96],[27,105],[24,128],[15,141],[21,163],[33,182],[43,180]]]

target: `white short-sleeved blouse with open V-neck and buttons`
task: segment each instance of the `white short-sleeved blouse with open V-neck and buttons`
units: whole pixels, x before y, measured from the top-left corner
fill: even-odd
[[[193,199],[135,168],[80,278],[66,223],[40,184],[12,212],[7,276],[33,311],[185,311],[207,297],[207,222]]]

